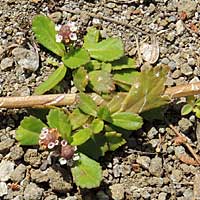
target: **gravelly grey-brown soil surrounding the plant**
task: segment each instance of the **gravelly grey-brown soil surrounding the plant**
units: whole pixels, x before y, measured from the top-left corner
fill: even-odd
[[[55,70],[46,61],[52,55],[36,47],[31,31],[31,20],[38,13],[55,23],[75,21],[83,33],[94,25],[105,38],[121,37],[126,54],[136,57],[141,70],[156,64],[170,67],[167,86],[199,81],[199,0],[1,0],[0,96],[31,95]],[[150,66],[144,60],[141,63],[137,45],[151,44],[152,38],[156,38],[160,52]],[[66,88],[65,92],[73,91]],[[180,104],[174,103],[166,114],[198,154],[198,119],[192,114],[181,117],[180,109]],[[166,122],[146,122],[123,148],[101,160],[101,187],[81,190],[58,164],[43,168],[48,152],[16,142],[15,130],[27,113],[25,109],[0,110],[0,199],[200,199],[198,163],[188,164],[191,154],[187,146],[175,145],[176,134]]]

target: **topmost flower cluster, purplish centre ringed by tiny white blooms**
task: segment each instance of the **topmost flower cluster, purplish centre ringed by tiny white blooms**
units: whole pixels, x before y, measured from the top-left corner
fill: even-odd
[[[68,22],[65,25],[56,25],[55,30],[58,32],[56,34],[56,42],[69,43],[70,41],[77,40],[77,26],[75,22]]]

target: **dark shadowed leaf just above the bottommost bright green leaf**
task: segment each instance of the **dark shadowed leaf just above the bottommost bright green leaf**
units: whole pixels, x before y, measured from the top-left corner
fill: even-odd
[[[108,150],[106,146],[106,137],[103,133],[95,134],[88,141],[78,146],[78,150],[89,157],[98,160],[99,157],[104,156]],[[92,149],[92,151],[91,151]]]

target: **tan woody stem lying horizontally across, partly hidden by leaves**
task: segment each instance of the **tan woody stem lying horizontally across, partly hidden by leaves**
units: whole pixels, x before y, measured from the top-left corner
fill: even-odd
[[[200,94],[200,82],[167,88],[164,95],[171,99]],[[97,104],[101,104],[100,96],[92,94]],[[73,105],[78,102],[78,94],[48,94],[26,97],[0,97],[0,108],[46,108],[50,106]]]

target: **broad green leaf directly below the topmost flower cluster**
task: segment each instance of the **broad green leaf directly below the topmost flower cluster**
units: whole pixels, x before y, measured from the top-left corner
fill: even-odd
[[[88,63],[90,61],[90,56],[83,48],[74,49],[62,57],[62,61],[67,67],[75,69]]]

